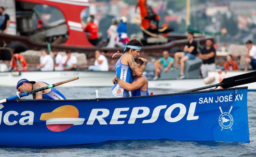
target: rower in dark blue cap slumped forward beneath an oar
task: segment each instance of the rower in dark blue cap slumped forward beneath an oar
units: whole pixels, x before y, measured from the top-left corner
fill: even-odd
[[[49,84],[46,82],[34,82],[27,79],[21,79],[17,82],[16,89],[21,94],[48,85]],[[33,99],[66,100],[66,97],[53,87],[44,91],[33,93]]]

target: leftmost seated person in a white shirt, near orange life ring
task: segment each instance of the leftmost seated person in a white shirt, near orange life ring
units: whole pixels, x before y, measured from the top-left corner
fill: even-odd
[[[47,49],[41,50],[40,65],[37,66],[37,69],[40,69],[40,71],[53,71],[53,57],[49,55],[49,51]]]

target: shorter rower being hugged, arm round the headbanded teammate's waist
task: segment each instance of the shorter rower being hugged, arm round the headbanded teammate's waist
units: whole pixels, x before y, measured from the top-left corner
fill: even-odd
[[[140,67],[144,62],[137,58],[135,62]],[[121,86],[126,91],[131,91],[132,96],[142,96],[142,95],[149,95],[149,82],[145,75],[137,76],[134,72],[132,83],[125,82],[121,80],[119,77],[115,77],[113,81],[117,82],[119,86]],[[117,85],[117,86],[118,86]]]

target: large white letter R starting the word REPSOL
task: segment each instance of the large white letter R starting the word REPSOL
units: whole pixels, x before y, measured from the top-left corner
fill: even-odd
[[[102,112],[101,115],[97,115],[98,112]],[[96,109],[92,109],[91,110],[91,114],[88,118],[88,121],[87,121],[87,125],[93,125],[94,124],[94,121],[95,119],[98,120],[98,122],[101,124],[101,125],[107,125],[107,122],[103,119],[105,117],[107,117],[109,115],[110,111],[106,108],[96,108]]]

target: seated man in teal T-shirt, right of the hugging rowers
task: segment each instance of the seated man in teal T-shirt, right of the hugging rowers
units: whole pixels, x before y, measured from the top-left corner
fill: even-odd
[[[171,67],[174,66],[174,58],[169,56],[169,52],[167,50],[163,51],[163,57],[155,61],[155,77],[153,80],[157,80],[161,71],[169,71]]]

